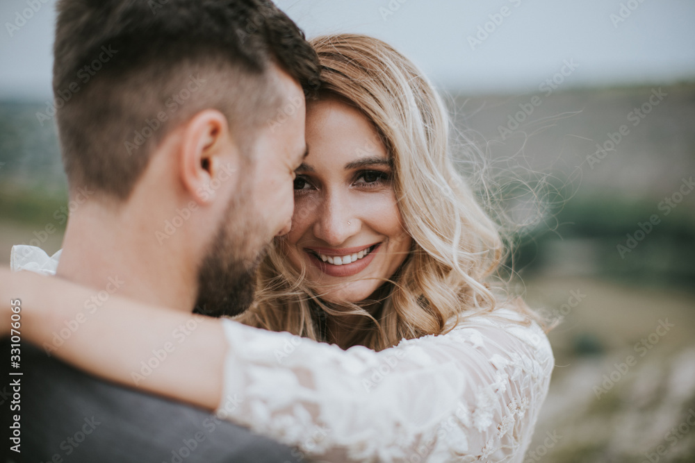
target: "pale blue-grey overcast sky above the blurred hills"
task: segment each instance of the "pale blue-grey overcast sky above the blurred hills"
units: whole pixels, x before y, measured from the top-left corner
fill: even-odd
[[[0,1],[0,98],[50,97],[55,14],[54,0],[45,1]],[[28,3],[40,8],[31,12]],[[694,0],[277,4],[309,37],[359,32],[386,40],[450,90],[532,92],[564,62],[576,67],[564,87],[695,80]],[[24,24],[22,12],[32,13]]]

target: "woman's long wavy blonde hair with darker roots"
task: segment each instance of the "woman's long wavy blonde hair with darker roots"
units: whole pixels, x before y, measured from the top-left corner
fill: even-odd
[[[379,310],[368,312],[359,303],[322,301],[304,270],[288,264],[276,240],[259,268],[254,305],[236,319],[326,341],[326,320],[341,326],[341,319],[350,315],[352,326],[345,328],[352,328],[352,335],[342,347],[380,351],[403,338],[443,334],[461,317],[490,312],[500,303],[530,314],[521,299],[506,296],[506,288],[493,291],[491,277],[507,257],[500,226],[455,169],[448,112],[427,78],[373,37],[327,35],[311,44],[322,66],[319,99],[351,103],[382,137],[393,162],[402,223],[413,245],[400,269],[382,285]],[[354,315],[362,321],[359,326],[354,326]]]

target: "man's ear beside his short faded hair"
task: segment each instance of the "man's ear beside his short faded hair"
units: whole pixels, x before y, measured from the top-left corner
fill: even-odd
[[[236,171],[239,162],[227,117],[212,109],[198,112],[186,123],[180,153],[181,181],[199,204],[215,199],[221,185],[220,171]],[[229,180],[232,179],[225,176],[224,181]]]

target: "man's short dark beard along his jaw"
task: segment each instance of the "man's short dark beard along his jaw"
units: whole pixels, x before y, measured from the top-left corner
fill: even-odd
[[[241,207],[241,196],[235,195],[230,201],[202,260],[193,310],[197,314],[234,316],[247,310],[254,300],[256,269],[265,255],[265,242],[259,242],[264,228],[252,221],[254,214],[246,212],[250,208]]]

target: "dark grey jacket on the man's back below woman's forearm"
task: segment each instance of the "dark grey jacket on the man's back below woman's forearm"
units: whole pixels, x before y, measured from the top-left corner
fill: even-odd
[[[9,355],[9,340],[0,344],[0,352]],[[3,439],[3,456],[10,460],[2,462],[301,461],[297,451],[246,428],[85,375],[27,343],[22,343],[21,371],[22,453],[8,451],[8,439]],[[0,388],[9,382],[3,381]],[[8,419],[17,413],[9,408],[13,393],[11,388],[9,394],[1,392],[3,416]],[[8,426],[3,423],[3,431]]]

